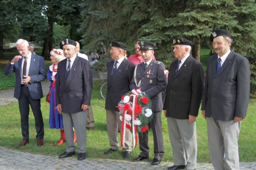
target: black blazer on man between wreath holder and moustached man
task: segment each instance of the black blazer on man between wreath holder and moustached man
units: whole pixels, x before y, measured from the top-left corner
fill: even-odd
[[[188,56],[181,68],[176,72],[178,60],[169,68],[168,84],[163,110],[166,117],[188,119],[188,115],[197,116],[203,94],[203,65]]]

